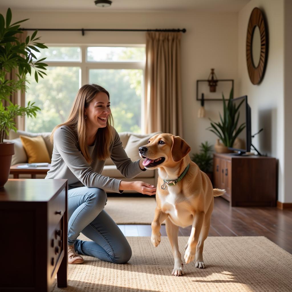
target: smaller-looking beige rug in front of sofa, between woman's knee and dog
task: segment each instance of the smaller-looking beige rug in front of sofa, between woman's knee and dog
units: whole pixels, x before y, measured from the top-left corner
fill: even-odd
[[[155,198],[108,197],[105,211],[117,224],[151,224],[155,207]]]

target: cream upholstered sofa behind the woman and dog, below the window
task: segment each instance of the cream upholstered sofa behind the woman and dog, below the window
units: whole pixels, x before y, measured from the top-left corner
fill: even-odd
[[[128,157],[130,157],[132,161],[136,161],[140,158],[139,153],[138,153],[138,148],[142,145],[147,144],[147,141],[149,140],[149,138],[157,133],[161,133],[161,132],[155,132],[151,134],[137,134],[137,133],[131,133],[131,132],[121,132],[119,133],[119,136]],[[22,146],[22,142],[19,138],[20,135],[28,136],[28,137],[42,136],[44,138],[44,142],[46,144],[46,148],[48,150],[50,158],[52,158],[53,144],[51,144],[49,140],[51,133],[31,133],[31,132],[21,131],[21,130],[18,130],[17,133],[15,133],[14,131],[10,131],[9,140],[4,140],[4,142],[8,142],[8,141],[14,142],[15,154],[12,157],[11,165],[15,165],[18,163],[27,163],[27,155],[24,150],[24,147]],[[111,178],[122,179],[125,181],[140,180],[140,181],[144,181],[145,183],[150,183],[155,186],[157,185],[157,177],[158,177],[157,169],[156,169],[156,170],[143,171],[142,173],[139,173],[133,179],[124,178],[122,174],[117,170],[116,166],[114,165],[114,163],[112,162],[110,158],[105,161],[105,166],[101,174],[105,176],[109,176]],[[44,178],[44,177],[45,175],[36,175],[36,178]],[[10,175],[10,178],[12,178],[11,175]],[[23,174],[23,175],[19,175],[19,178],[30,178],[30,176]],[[135,192],[135,191],[127,191],[127,192]]]

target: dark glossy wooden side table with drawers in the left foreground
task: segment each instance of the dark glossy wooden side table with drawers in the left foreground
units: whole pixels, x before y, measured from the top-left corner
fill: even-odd
[[[67,180],[10,179],[0,188],[0,291],[67,287]]]

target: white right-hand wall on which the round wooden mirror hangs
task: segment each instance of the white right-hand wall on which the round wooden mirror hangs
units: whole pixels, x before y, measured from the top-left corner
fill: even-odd
[[[289,5],[291,8],[291,4]],[[269,34],[267,67],[264,79],[259,85],[251,83],[246,65],[246,32],[248,20],[254,7],[260,8],[265,14]],[[286,19],[290,16],[289,14],[291,14],[291,10],[290,13],[287,11]],[[289,22],[291,26],[291,20]],[[291,29],[289,31],[285,28],[285,32],[286,35],[291,34]],[[252,111],[252,133],[264,128],[264,131],[256,136],[252,142],[263,154],[267,153],[279,160],[278,200],[280,202],[292,202],[291,166],[288,165],[287,160],[290,159],[288,157],[290,155],[288,147],[290,145],[291,149],[291,134],[290,144],[286,144],[286,141],[288,141],[286,140],[286,137],[288,138],[286,133],[289,131],[288,120],[290,124],[292,121],[291,98],[287,98],[288,93],[291,96],[291,57],[289,55],[291,53],[291,36],[289,45],[285,47],[284,56],[286,41],[286,38],[284,39],[284,0],[250,1],[239,11],[238,36],[239,94],[248,95],[248,103]],[[287,58],[290,58],[290,65],[288,64],[288,66],[286,64]],[[284,87],[284,78],[286,87]],[[288,168],[290,168],[290,174]]]

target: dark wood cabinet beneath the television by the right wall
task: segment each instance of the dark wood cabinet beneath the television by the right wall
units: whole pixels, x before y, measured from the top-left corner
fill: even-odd
[[[214,187],[231,206],[276,206],[276,159],[215,153]]]

